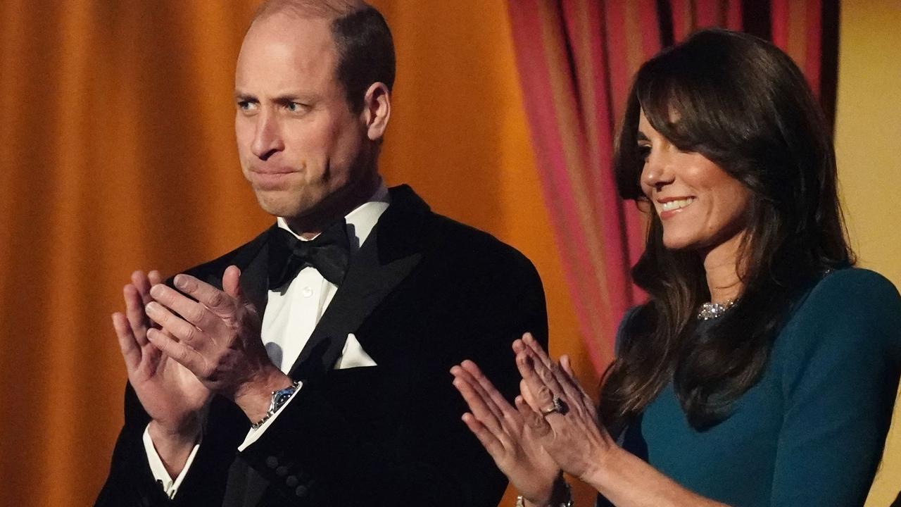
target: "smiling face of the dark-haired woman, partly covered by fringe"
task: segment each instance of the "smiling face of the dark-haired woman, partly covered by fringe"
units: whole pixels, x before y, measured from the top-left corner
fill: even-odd
[[[642,111],[638,146],[644,159],[642,191],[672,249],[710,250],[741,237],[751,191],[697,152],[683,152],[654,130]]]

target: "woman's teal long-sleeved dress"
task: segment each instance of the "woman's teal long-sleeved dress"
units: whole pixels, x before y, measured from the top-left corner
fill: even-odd
[[[692,492],[734,507],[860,506],[899,370],[895,287],[876,272],[831,272],[788,318],[760,381],[727,419],[696,431],[669,383],[622,444]]]

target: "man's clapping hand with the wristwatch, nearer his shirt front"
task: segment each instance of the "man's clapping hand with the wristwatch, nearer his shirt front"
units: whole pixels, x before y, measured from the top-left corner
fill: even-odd
[[[175,277],[177,290],[157,284],[147,315],[161,329],[150,329],[150,343],[196,375],[212,392],[230,398],[248,419],[266,415],[270,393],[291,379],[269,360],[260,338],[260,319],[242,294],[241,271],[229,266],[223,289],[187,274]]]

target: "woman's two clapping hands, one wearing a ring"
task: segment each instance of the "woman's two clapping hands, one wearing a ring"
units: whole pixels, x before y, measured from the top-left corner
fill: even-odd
[[[561,470],[595,475],[616,444],[598,424],[568,356],[554,363],[528,333],[513,348],[523,376],[515,409],[476,364],[464,361],[451,373],[471,410],[463,421],[527,501],[547,504]]]

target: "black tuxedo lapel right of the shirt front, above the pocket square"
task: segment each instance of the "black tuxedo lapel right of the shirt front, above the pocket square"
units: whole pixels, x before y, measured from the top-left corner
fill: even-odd
[[[418,240],[428,213],[429,207],[409,187],[391,189],[391,205],[350,260],[344,283],[291,368],[292,377],[313,379],[332,369],[348,334],[357,331],[422,260]]]

